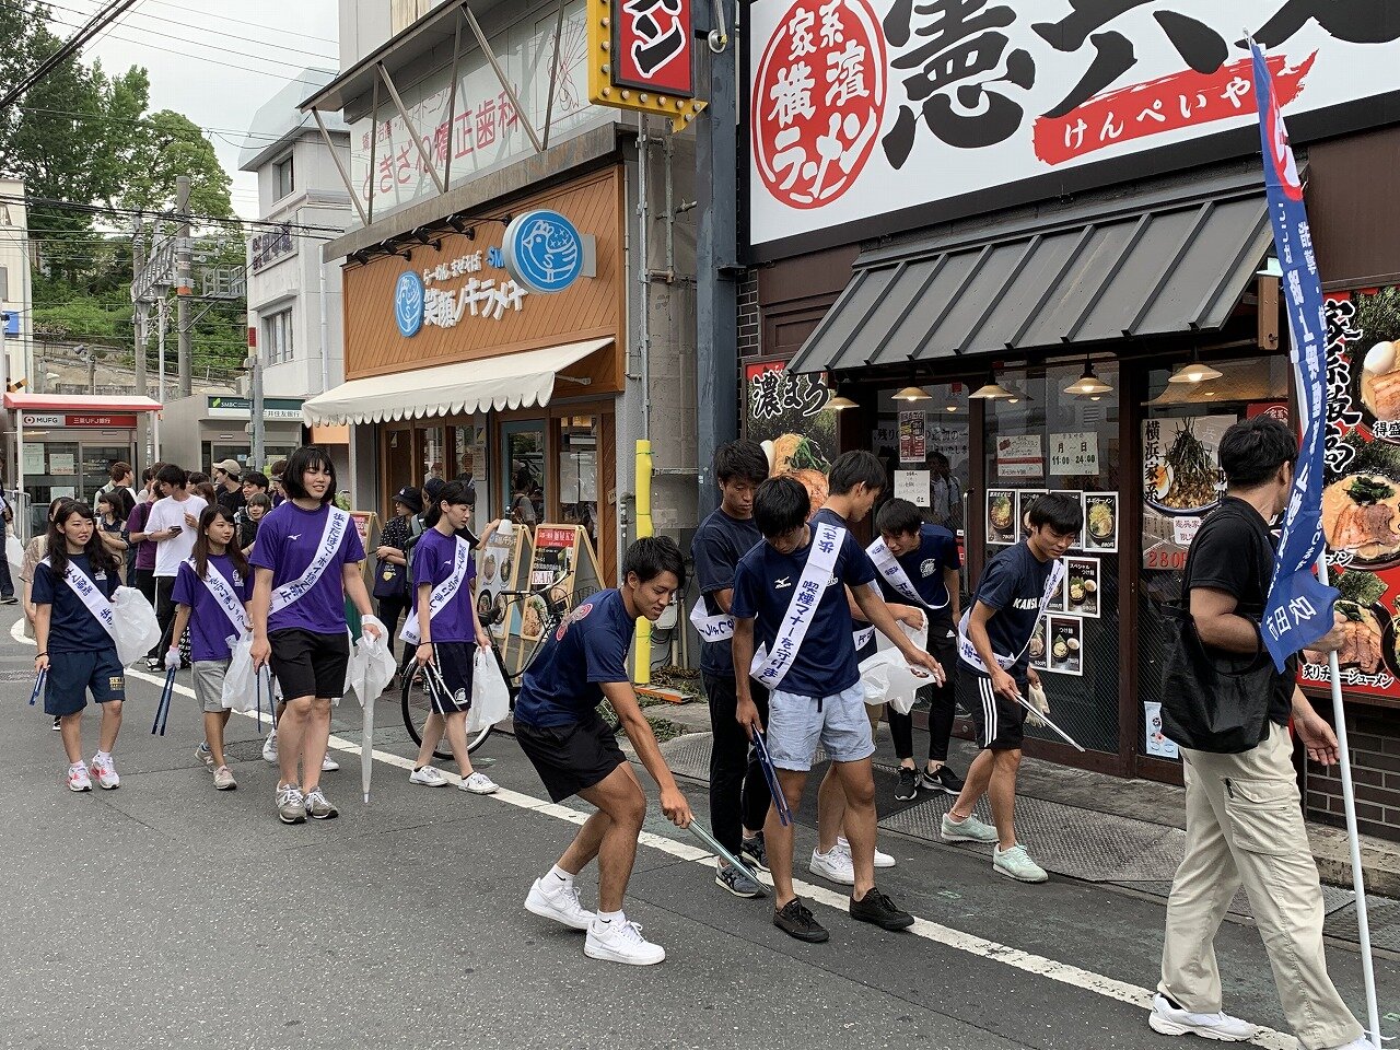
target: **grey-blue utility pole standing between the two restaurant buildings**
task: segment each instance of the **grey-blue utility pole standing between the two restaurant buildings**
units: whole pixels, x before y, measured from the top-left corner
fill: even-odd
[[[724,31],[708,24],[718,13],[734,34],[722,50],[710,48],[710,106],[696,120],[696,465],[700,468],[699,515],[704,518],[718,504],[711,477],[715,449],[732,441],[738,431],[739,386],[739,274],[738,207],[739,185],[735,92],[738,27],[734,0],[696,4],[696,29]],[[715,45],[718,46],[718,45]]]

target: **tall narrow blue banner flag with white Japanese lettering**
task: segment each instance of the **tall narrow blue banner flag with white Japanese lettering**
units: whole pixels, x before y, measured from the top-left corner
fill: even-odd
[[[1323,553],[1322,489],[1323,435],[1327,420],[1327,319],[1322,280],[1313,252],[1303,185],[1298,176],[1284,115],[1264,52],[1250,41],[1254,56],[1254,98],[1259,101],[1259,134],[1264,150],[1264,185],[1274,223],[1274,248],[1282,266],[1282,300],[1292,336],[1294,375],[1298,381],[1302,448],[1294,490],[1284,515],[1284,535],[1274,559],[1274,578],[1264,608],[1264,645],[1280,671],[1299,650],[1331,630],[1337,591],[1313,575]]]

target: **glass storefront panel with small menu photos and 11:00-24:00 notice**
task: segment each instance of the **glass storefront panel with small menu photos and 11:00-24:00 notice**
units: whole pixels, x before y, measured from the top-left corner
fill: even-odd
[[[1025,515],[1047,491],[1085,508],[1085,531],[1065,559],[1065,584],[1040,620],[1030,658],[1056,722],[1084,748],[1117,753],[1120,379],[1117,365],[1100,364],[1098,375],[1113,392],[1064,393],[1081,371],[1050,365],[998,375],[1016,399],[984,402],[987,483],[976,512],[990,559],[1025,538]],[[969,683],[962,689],[966,706]],[[1026,734],[1058,742],[1046,729],[1028,725]]]

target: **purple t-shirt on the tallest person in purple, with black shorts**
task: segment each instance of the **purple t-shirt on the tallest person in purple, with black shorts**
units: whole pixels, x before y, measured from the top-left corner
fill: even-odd
[[[343,511],[342,511],[343,514]],[[256,568],[272,570],[272,589],[301,580],[321,552],[321,536],[326,531],[330,507],[304,511],[291,500],[274,507],[258,524],[258,543],[248,560]],[[344,588],[340,570],[364,561],[364,545],[354,519],[344,515],[344,535],[330,564],[315,585],[291,605],[267,617],[267,631],[300,627],[315,634],[343,634],[346,630]]]

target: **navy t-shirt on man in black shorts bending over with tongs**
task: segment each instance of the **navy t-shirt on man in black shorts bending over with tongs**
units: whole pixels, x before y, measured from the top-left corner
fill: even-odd
[[[603,700],[602,685],[631,682],[631,631],[619,591],[599,591],[575,606],[525,672],[515,721],[543,728],[588,718]]]

